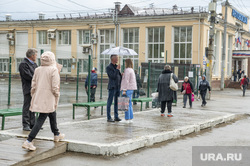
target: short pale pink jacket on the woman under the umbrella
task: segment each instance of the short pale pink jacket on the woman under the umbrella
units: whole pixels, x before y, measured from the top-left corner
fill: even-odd
[[[137,90],[135,72],[132,68],[126,68],[122,76],[121,90]]]

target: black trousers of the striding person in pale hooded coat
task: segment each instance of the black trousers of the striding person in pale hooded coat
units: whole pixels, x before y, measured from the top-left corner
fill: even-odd
[[[49,116],[50,128],[51,128],[52,133],[54,133],[54,135],[60,134],[59,130],[57,128],[56,111],[54,111],[53,113],[40,113],[39,117],[36,121],[35,126],[32,128],[32,130],[29,134],[28,141],[31,142],[33,139],[36,138],[36,135],[38,134],[38,132],[42,128],[42,126],[43,126],[43,124],[48,116]]]

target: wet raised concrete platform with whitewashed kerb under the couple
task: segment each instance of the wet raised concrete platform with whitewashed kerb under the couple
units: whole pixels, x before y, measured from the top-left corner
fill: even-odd
[[[123,117],[123,115],[120,115]],[[159,109],[136,112],[133,123],[108,123],[106,118],[58,124],[66,134],[68,151],[97,155],[119,155],[155,143],[213,127],[236,118],[235,114],[197,109],[174,108],[174,117],[161,117]],[[22,129],[1,131],[3,136],[27,137]],[[39,132],[37,139],[52,140],[49,126]]]

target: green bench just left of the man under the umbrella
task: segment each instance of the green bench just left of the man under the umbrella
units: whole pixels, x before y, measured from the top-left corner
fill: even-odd
[[[103,115],[103,106],[107,105],[107,101],[87,102],[87,103],[73,103],[73,119],[75,119],[75,107],[87,107],[88,109],[88,120],[90,119],[90,108],[91,107],[102,107],[101,115]]]

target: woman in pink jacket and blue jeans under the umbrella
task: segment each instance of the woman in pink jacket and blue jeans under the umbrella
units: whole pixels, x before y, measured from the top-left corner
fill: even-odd
[[[122,83],[121,83],[121,91],[123,95],[127,95],[129,97],[129,108],[128,111],[125,112],[125,120],[126,122],[132,122],[133,119],[133,107],[132,107],[132,95],[134,90],[137,90],[137,84],[135,79],[135,72],[133,70],[133,62],[131,59],[125,60],[125,67]]]

